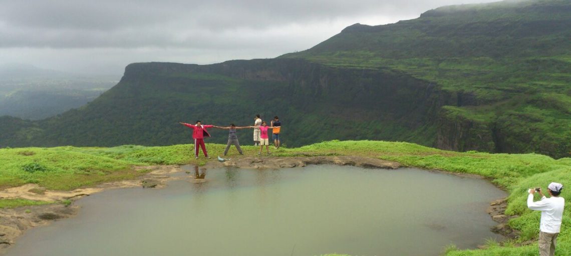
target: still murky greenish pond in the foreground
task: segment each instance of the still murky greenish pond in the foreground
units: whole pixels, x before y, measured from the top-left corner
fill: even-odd
[[[210,169],[204,180],[187,169],[164,189],[79,200],[79,216],[29,231],[7,255],[439,255],[497,238],[485,209],[505,196],[408,168]]]

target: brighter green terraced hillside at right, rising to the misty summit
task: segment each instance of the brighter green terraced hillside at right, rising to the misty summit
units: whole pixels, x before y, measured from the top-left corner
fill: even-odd
[[[571,152],[571,2],[446,6],[391,25],[347,27],[282,58],[389,68],[457,100],[440,109],[436,146],[491,152]],[[459,129],[460,128],[460,129]]]

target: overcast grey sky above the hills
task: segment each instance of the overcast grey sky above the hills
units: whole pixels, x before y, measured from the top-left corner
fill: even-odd
[[[354,23],[496,0],[0,0],[0,64],[122,74],[133,62],[274,58]]]

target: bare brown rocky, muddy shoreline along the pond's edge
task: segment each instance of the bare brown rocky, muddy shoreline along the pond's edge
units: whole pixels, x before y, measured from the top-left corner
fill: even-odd
[[[235,167],[244,169],[278,169],[303,167],[312,164],[335,164],[351,165],[363,168],[397,169],[401,165],[398,162],[375,159],[360,156],[317,156],[317,157],[243,157],[225,162],[210,161],[201,168]],[[79,213],[79,206],[69,204],[70,201],[89,196],[93,193],[102,192],[106,189],[115,188],[162,188],[166,182],[179,180],[185,177],[175,177],[171,174],[182,172],[178,165],[155,165],[136,166],[135,169],[149,169],[150,172],[135,180],[116,181],[100,184],[91,188],[81,188],[72,191],[53,191],[39,187],[37,184],[26,184],[16,188],[0,191],[0,198],[24,198],[29,200],[68,202],[49,205],[21,206],[14,209],[0,209],[0,255],[4,255],[7,249],[17,242],[17,238],[26,230],[33,227],[45,226],[63,218],[74,217]],[[431,170],[441,172],[440,170]],[[446,172],[449,173],[449,172]],[[455,174],[459,176],[478,177],[473,174]],[[492,227],[492,231],[508,238],[517,237],[518,234],[506,227],[506,222],[513,217],[506,216],[505,199],[491,202],[487,212],[498,225]]]

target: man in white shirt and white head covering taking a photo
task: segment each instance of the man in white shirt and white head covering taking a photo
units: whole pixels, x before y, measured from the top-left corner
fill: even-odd
[[[555,253],[555,243],[557,235],[561,230],[561,218],[563,217],[563,207],[565,206],[565,198],[559,197],[563,185],[551,182],[548,186],[549,195],[546,198],[541,189],[537,189],[541,196],[541,200],[533,202],[533,194],[536,189],[529,189],[528,208],[541,211],[540,232],[539,232],[539,255],[553,256]]]

